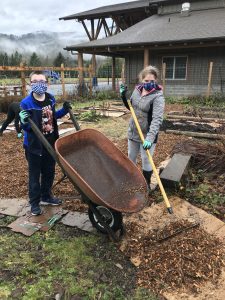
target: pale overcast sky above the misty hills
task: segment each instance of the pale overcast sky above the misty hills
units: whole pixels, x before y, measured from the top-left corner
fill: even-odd
[[[133,0],[134,1],[134,0]],[[79,32],[83,27],[75,22],[59,21],[78,12],[128,0],[0,0],[0,33],[21,35],[35,31]]]

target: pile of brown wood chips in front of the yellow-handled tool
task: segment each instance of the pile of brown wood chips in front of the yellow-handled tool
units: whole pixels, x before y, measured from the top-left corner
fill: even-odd
[[[166,231],[146,232],[135,221],[127,223],[123,252],[138,267],[138,285],[156,292],[186,288],[197,293],[204,282],[217,282],[224,266],[223,244],[199,227],[180,232],[192,225],[178,220]]]

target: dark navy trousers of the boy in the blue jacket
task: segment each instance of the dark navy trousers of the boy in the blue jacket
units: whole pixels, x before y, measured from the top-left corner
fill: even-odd
[[[41,200],[52,196],[51,189],[55,177],[55,160],[43,149],[42,156],[25,150],[29,171],[29,199],[33,206],[39,205]]]

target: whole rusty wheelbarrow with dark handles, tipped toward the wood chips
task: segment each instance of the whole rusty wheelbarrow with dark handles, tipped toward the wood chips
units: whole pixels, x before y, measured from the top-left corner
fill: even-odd
[[[145,206],[145,178],[106,136],[95,129],[80,130],[71,110],[70,117],[77,131],[59,138],[55,150],[31,119],[29,122],[88,204],[92,225],[116,240],[115,232],[123,228],[122,213],[135,213]]]

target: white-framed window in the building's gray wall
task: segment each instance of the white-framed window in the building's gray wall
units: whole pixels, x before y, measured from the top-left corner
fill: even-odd
[[[166,79],[186,79],[187,56],[165,56]]]

